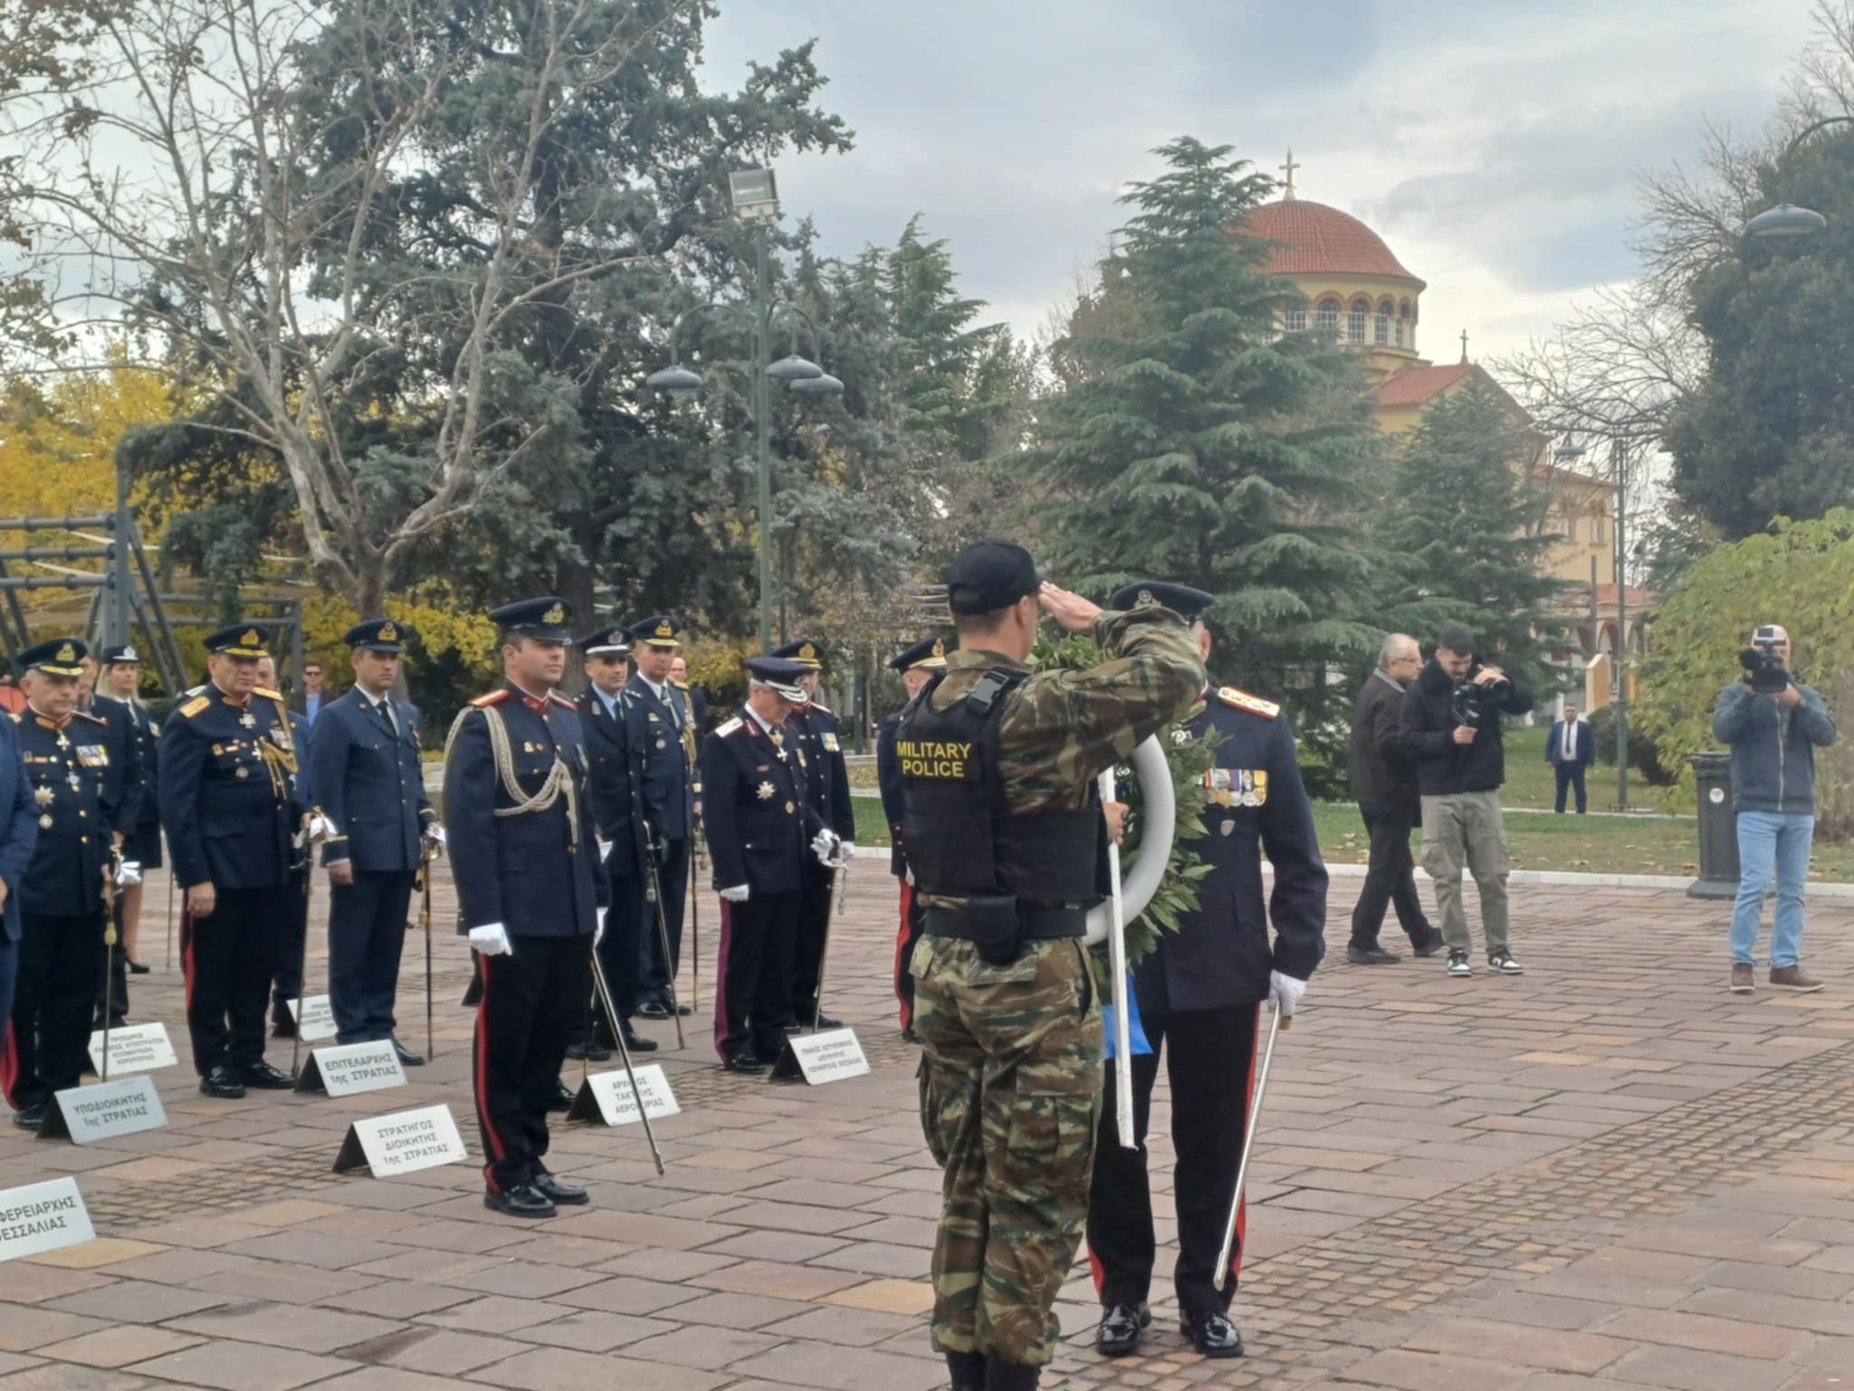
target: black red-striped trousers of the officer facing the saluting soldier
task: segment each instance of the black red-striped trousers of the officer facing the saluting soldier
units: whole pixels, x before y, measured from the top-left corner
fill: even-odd
[[[1177,1168],[1172,1196],[1177,1207],[1177,1302],[1190,1309],[1227,1309],[1242,1265],[1242,1220],[1231,1280],[1216,1291],[1216,1257],[1235,1196],[1242,1133],[1255,1085],[1257,1005],[1203,1009],[1183,1015],[1142,1015],[1151,1053],[1133,1059],[1133,1124],[1137,1150],[1120,1148],[1114,1122],[1114,1068],[1107,1065],[1101,1129],[1094,1146],[1094,1183],[1088,1191],[1088,1259],[1101,1308],[1144,1304],[1153,1274],[1153,1204],[1146,1178],[1146,1122],[1151,1115],[1159,1057],[1172,1083],[1172,1146]]]

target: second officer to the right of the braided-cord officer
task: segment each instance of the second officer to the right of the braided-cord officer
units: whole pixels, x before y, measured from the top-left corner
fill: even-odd
[[[682,625],[669,614],[654,614],[632,623],[632,660],[636,675],[625,686],[630,696],[625,729],[638,779],[638,801],[643,807],[643,840],[656,857],[656,885],[662,900],[664,927],[656,924],[656,905],[643,903],[641,966],[638,981],[638,1015],[669,1018],[673,983],[682,961],[682,909],[690,881],[690,838],[695,833],[695,801],[701,786],[695,777],[695,729],[690,723],[688,703],[669,684],[669,664],[677,657]],[[645,892],[649,874],[640,881]],[[669,955],[664,957],[667,929]],[[688,1005],[680,1007],[688,1013]]]

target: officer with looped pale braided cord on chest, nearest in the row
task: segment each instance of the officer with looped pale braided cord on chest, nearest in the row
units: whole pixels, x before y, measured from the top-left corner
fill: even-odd
[[[482,976],[476,1003],[476,1124],[484,1207],[552,1217],[586,1189],[547,1168],[547,1109],[567,1037],[591,990],[597,912],[608,903],[586,785],[586,734],[565,675],[569,606],[543,597],[489,614],[502,675],[451,727],[445,829],[460,927]]]

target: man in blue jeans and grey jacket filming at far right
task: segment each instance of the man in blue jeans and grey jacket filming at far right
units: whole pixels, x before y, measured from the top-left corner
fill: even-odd
[[[1713,734],[1732,749],[1732,807],[1739,827],[1732,992],[1752,990],[1752,946],[1772,872],[1771,985],[1821,990],[1822,983],[1798,963],[1802,883],[1815,838],[1815,749],[1835,742],[1835,721],[1822,697],[1789,675],[1789,632],[1782,625],[1765,623],[1752,632],[1745,666],[1745,677],[1726,686],[1713,707]]]

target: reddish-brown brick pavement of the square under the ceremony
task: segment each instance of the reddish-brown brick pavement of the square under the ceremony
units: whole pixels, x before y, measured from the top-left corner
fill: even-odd
[[[1335,924],[1355,888],[1335,881]],[[469,1167],[330,1172],[350,1120],[434,1102],[475,1154],[456,938],[438,940],[438,1057],[408,1087],[208,1102],[161,968],[159,877],[148,903],[135,1016],[182,1052],[156,1074],[171,1124],[85,1148],[0,1133],[0,1181],[76,1174],[98,1230],[0,1265],[0,1391],[940,1385],[923,1332],[938,1174],[892,1027],[879,864],[858,866],[831,963],[873,1074],[730,1078],[705,1024],[682,1053],[649,1026],[684,1107],[658,1126],[669,1172],[636,1128],[558,1133],[554,1167],[593,1202],[543,1224],[484,1211]],[[1101,1363],[1077,1269],[1046,1385],[1854,1387],[1854,905],[1811,907],[1810,964],[1835,985],[1806,998],[1724,994],[1721,922],[1670,892],[1526,887],[1522,979],[1329,959],[1257,1146],[1237,1302],[1251,1356],[1192,1356],[1161,1282],[1146,1356]],[[421,972],[412,938],[417,1046]],[[1161,1193],[1166,1124],[1161,1087]]]

